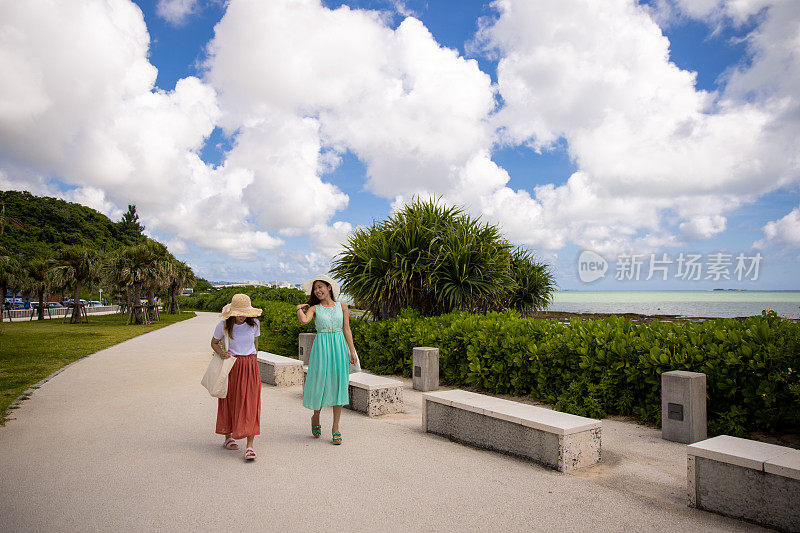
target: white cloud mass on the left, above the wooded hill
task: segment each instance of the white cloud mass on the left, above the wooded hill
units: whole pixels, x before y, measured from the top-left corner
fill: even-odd
[[[59,194],[111,216],[136,204],[153,234],[236,257],[282,241],[242,205],[252,169],[206,165],[220,117],[195,77],[155,86],[141,11],[124,0],[3,2],[0,170],[4,187]]]

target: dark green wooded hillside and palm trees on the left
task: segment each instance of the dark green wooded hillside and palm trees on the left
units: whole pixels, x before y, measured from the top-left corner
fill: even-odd
[[[71,322],[80,323],[81,292],[102,288],[141,324],[147,321],[143,297],[153,306],[163,294],[165,311],[178,313],[177,296],[196,282],[186,263],[142,234],[133,205],[112,222],[79,204],[27,192],[2,191],[0,202],[0,308],[9,290],[35,294],[43,319],[49,295],[69,292]]]

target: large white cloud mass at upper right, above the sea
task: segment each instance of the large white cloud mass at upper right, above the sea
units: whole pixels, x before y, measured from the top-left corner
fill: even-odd
[[[748,37],[752,61],[713,93],[670,61],[635,2],[493,2],[476,46],[498,59],[500,142],[547,151],[563,139],[580,171],[563,185],[497,190],[484,201],[505,208],[486,212],[545,248],[680,244],[712,238],[736,207],[796,182],[800,5],[706,4],[692,16],[767,8]]]

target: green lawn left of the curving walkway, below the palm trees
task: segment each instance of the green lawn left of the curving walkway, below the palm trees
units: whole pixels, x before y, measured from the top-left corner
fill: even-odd
[[[194,317],[162,314],[153,324],[126,326],[127,315],[90,316],[88,324],[61,320],[0,323],[0,425],[9,406],[56,370],[103,348]],[[25,398],[21,398],[25,399]]]

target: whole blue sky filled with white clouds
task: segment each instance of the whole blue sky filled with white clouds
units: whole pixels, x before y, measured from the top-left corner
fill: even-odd
[[[4,8],[44,42],[0,44],[24,111],[0,107],[0,186],[136,203],[208,279],[303,281],[435,195],[562,288],[800,289],[796,4],[57,4]],[[716,252],[760,254],[758,277],[615,279],[630,254]]]

